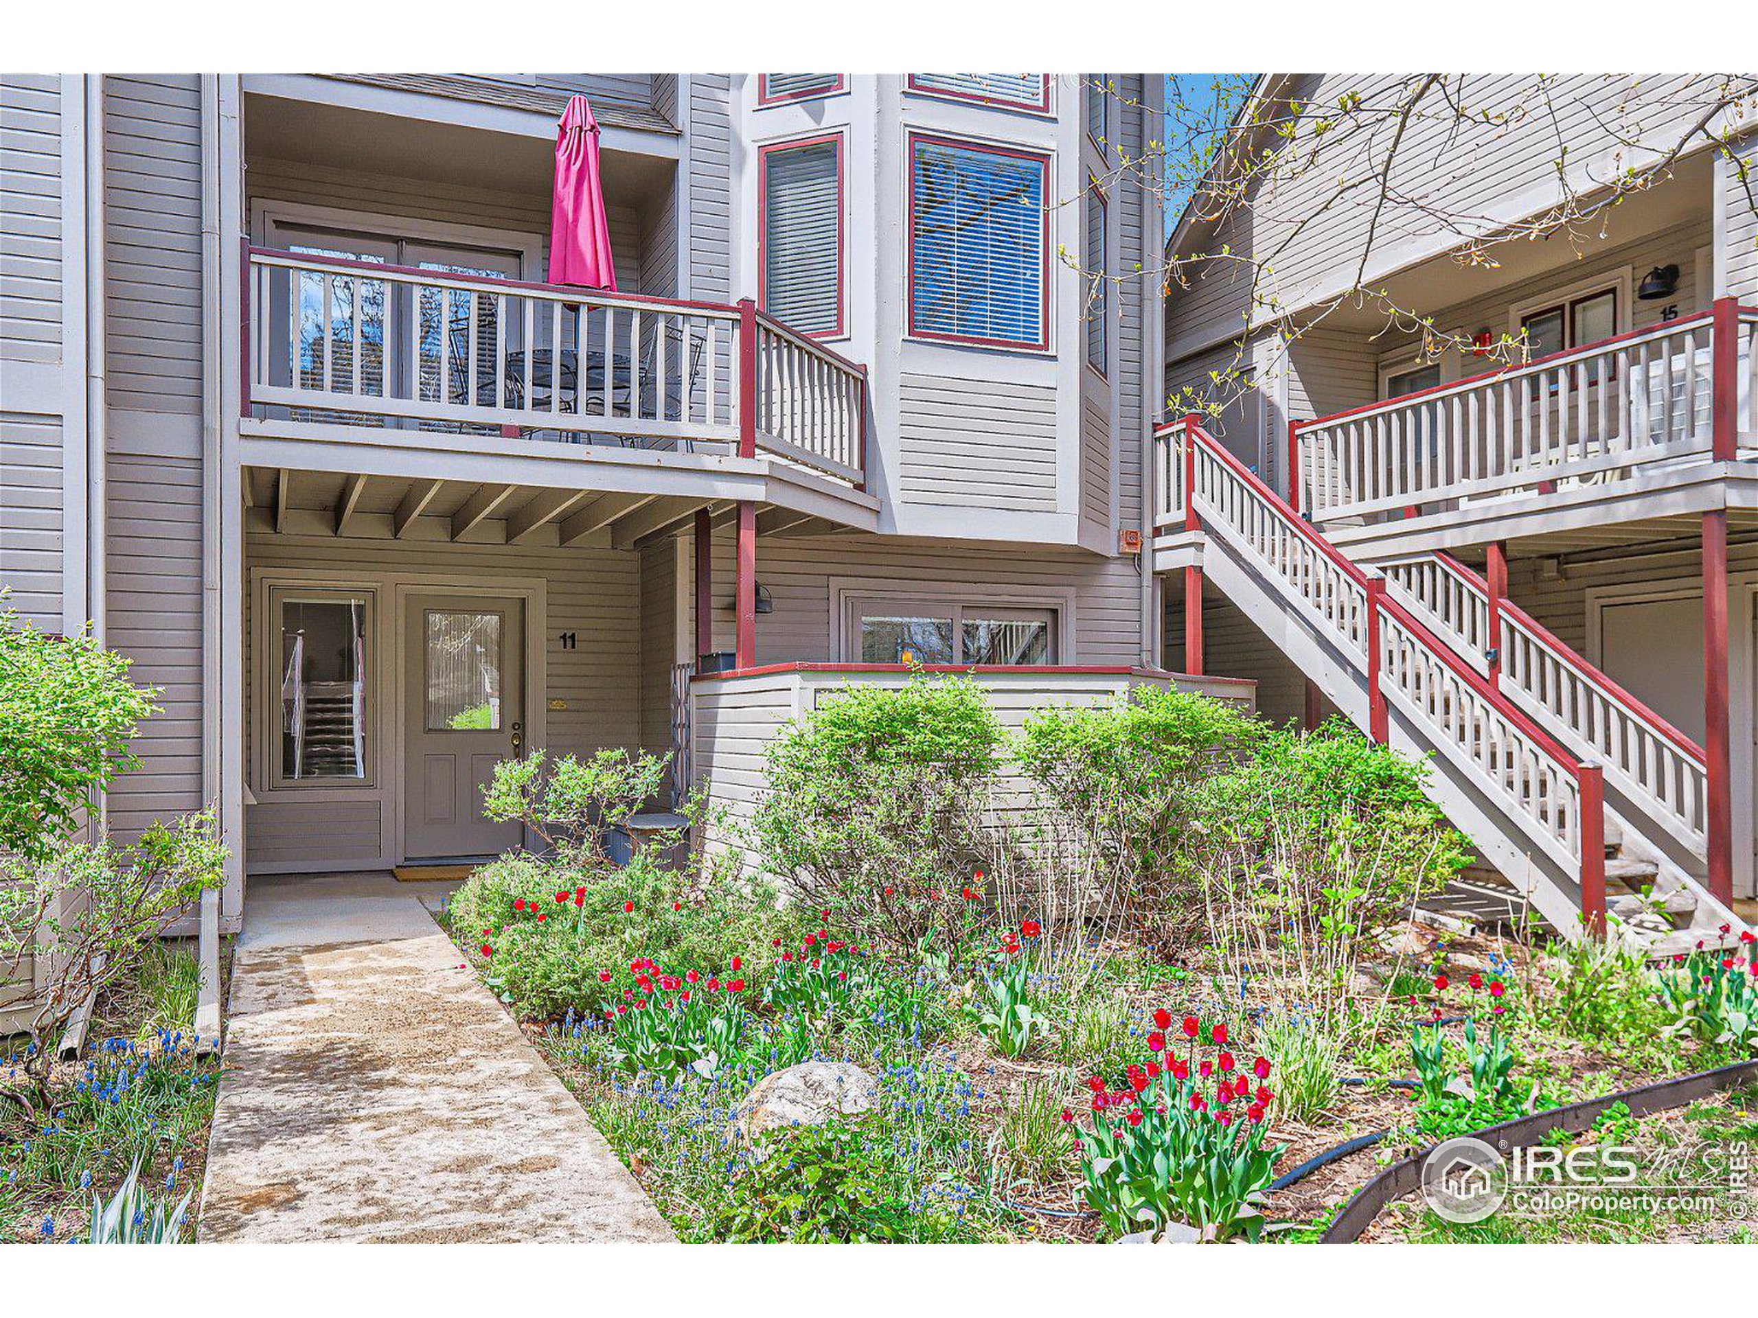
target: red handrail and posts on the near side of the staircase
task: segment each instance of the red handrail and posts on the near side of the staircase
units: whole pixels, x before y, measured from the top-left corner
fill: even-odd
[[[1246,467],[1238,457],[1229,453],[1220,443],[1215,441],[1199,424],[1195,416],[1185,416],[1178,422],[1169,422],[1159,429],[1157,434],[1173,436],[1183,431],[1190,450],[1185,457],[1185,508],[1190,510],[1192,520],[1201,524],[1201,511],[1195,510],[1195,480],[1194,480],[1194,450],[1202,448],[1213,460],[1227,467],[1236,480],[1239,480],[1245,489],[1253,494],[1259,503],[1262,503],[1269,511],[1303,540],[1306,540],[1327,562],[1331,562],[1343,576],[1355,583],[1364,596],[1364,610],[1368,615],[1368,634],[1375,636],[1377,613],[1391,617],[1398,626],[1410,636],[1419,647],[1422,647],[1435,661],[1454,673],[1471,692],[1482,699],[1489,708],[1493,708],[1500,717],[1503,717],[1515,731],[1521,733],[1533,749],[1551,759],[1558,770],[1575,780],[1577,789],[1577,829],[1575,829],[1575,859],[1580,866],[1580,910],[1589,928],[1603,935],[1605,931],[1605,780],[1603,770],[1598,764],[1584,763],[1577,759],[1556,736],[1536,724],[1531,715],[1514,705],[1503,692],[1500,692],[1491,682],[1473,670],[1459,654],[1442,641],[1420,619],[1417,619],[1408,608],[1399,601],[1385,596],[1382,582],[1369,576],[1368,571],[1359,568],[1355,562],[1347,559],[1341,550],[1336,548],[1329,540],[1326,540],[1315,527],[1308,525],[1303,517],[1299,517],[1289,503],[1276,494],[1269,485],[1266,485],[1250,467]],[[1368,701],[1369,701],[1369,726],[1375,733],[1375,740],[1384,742],[1384,692],[1380,692],[1380,670],[1384,666],[1384,648],[1369,641],[1369,650],[1366,655],[1368,670]]]

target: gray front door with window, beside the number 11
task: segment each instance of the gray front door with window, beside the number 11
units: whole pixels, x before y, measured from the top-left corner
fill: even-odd
[[[519,599],[408,597],[406,859],[496,856],[519,845],[519,824],[483,819],[482,789],[526,743],[524,640]]]

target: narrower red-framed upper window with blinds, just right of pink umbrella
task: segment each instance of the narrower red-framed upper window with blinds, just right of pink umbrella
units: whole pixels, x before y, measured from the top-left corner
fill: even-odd
[[[763,148],[763,309],[802,334],[842,334],[842,137]]]

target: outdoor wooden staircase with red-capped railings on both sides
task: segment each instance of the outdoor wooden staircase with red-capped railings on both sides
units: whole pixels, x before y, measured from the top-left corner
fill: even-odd
[[[1436,608],[1470,594],[1456,564],[1429,571],[1445,589],[1427,592],[1422,573],[1361,568],[1194,422],[1160,439],[1157,483],[1194,513],[1204,575],[1338,710],[1431,761],[1429,796],[1547,924],[1566,938],[1607,928],[1654,956],[1739,937],[1744,924],[1693,865],[1705,796],[1689,742],[1579,655],[1566,666],[1593,701],[1505,689],[1471,650],[1477,615]],[[1549,661],[1563,663],[1549,643]],[[1637,750],[1609,757],[1614,743]]]

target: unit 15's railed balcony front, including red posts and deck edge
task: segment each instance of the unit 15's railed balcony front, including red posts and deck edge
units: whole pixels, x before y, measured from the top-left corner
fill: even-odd
[[[1289,434],[1290,501],[1340,541],[1545,515],[1653,515],[1610,504],[1758,457],[1758,309],[1711,311],[1373,402]]]

